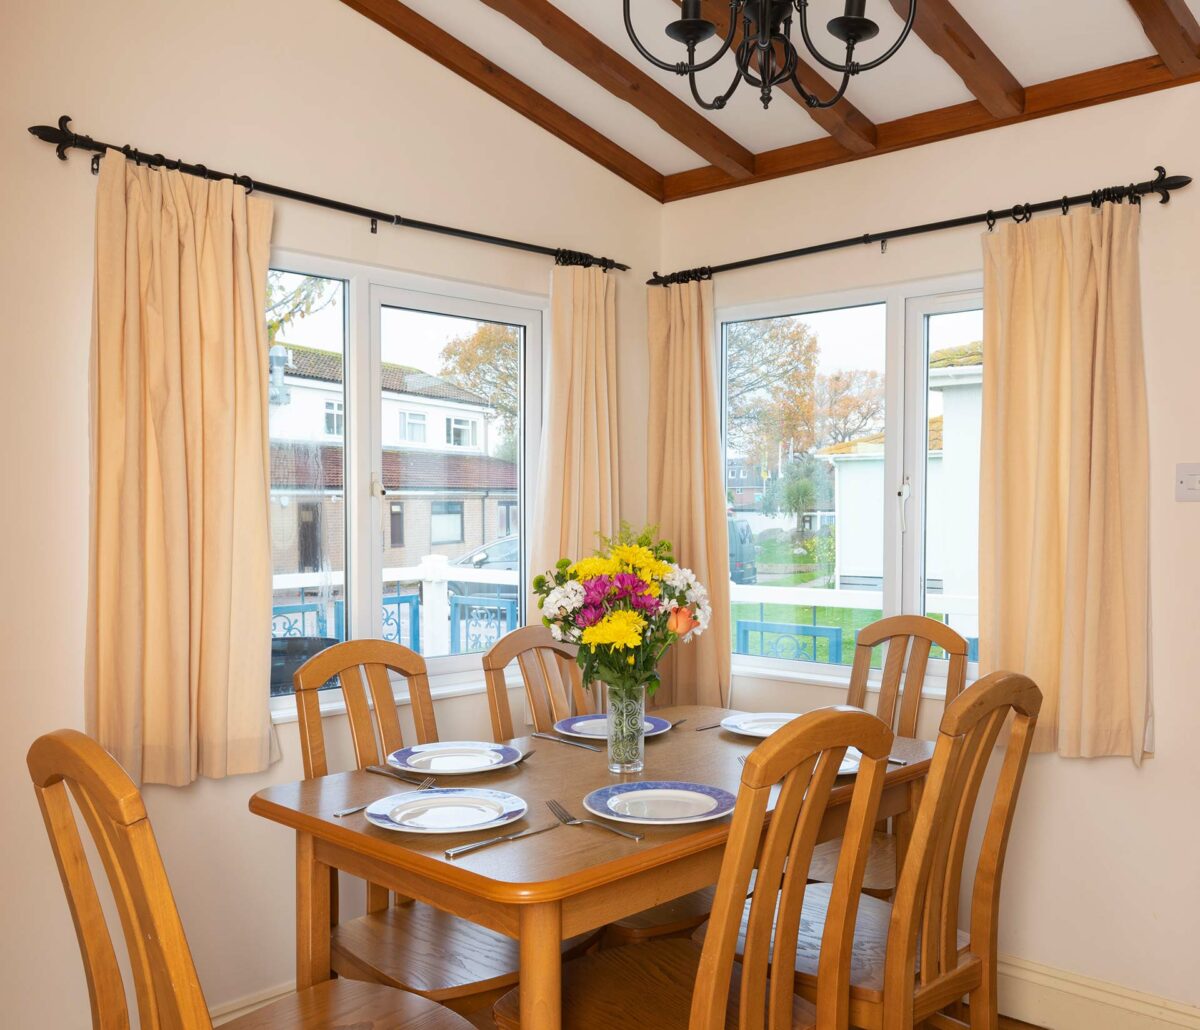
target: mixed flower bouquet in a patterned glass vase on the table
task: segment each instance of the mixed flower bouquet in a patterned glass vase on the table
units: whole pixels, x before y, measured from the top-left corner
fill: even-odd
[[[659,687],[667,648],[708,628],[708,591],[674,564],[671,544],[625,525],[592,557],[563,558],[534,576],[533,589],[554,639],[578,645],[583,682],[606,687],[608,768],[641,772],[646,697]]]

